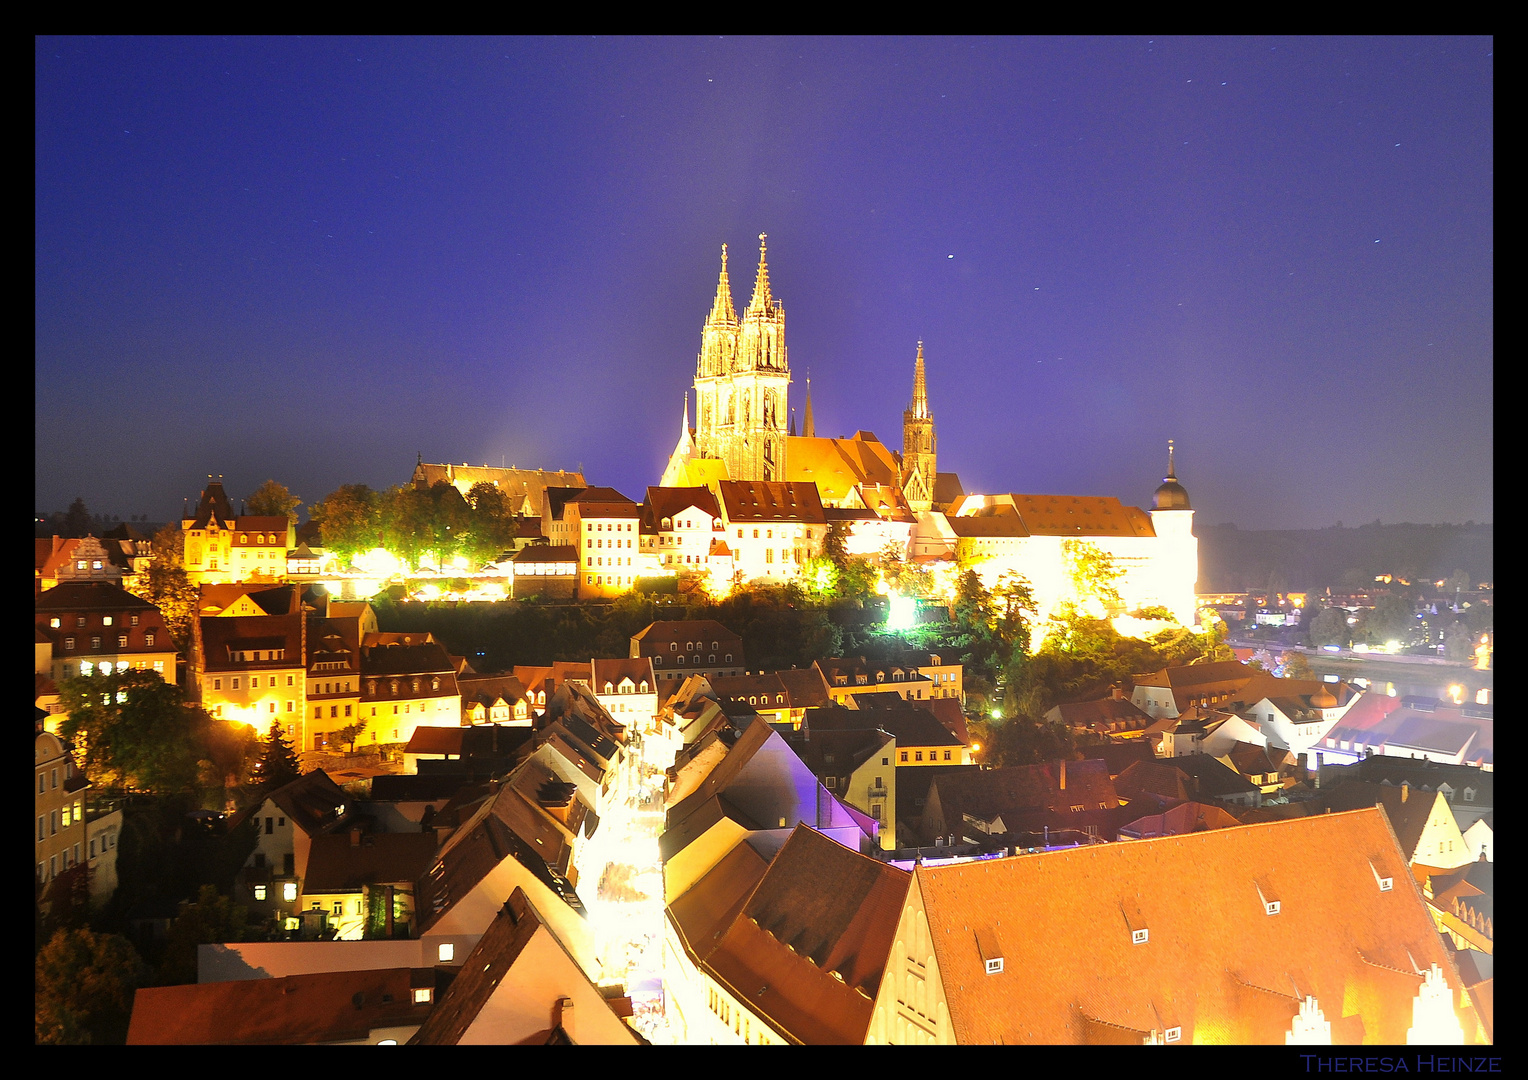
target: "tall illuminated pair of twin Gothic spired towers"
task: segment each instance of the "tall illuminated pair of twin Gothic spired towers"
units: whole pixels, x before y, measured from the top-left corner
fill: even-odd
[[[695,359],[695,452],[726,461],[732,480],[785,475],[785,307],[770,292],[764,240],[761,232],[753,299],[741,319],[721,246],[721,276]]]

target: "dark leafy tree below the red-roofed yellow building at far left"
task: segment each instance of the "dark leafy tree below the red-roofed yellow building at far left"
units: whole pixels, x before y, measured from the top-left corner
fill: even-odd
[[[197,791],[206,729],[217,723],[188,707],[180,689],[151,671],[64,680],[58,726],[83,755],[90,782],[128,791]]]

